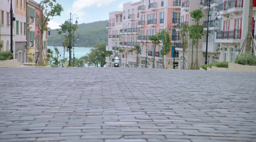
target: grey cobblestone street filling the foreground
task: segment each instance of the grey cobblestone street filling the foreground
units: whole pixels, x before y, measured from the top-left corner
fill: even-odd
[[[256,73],[0,68],[0,141],[256,141]]]

